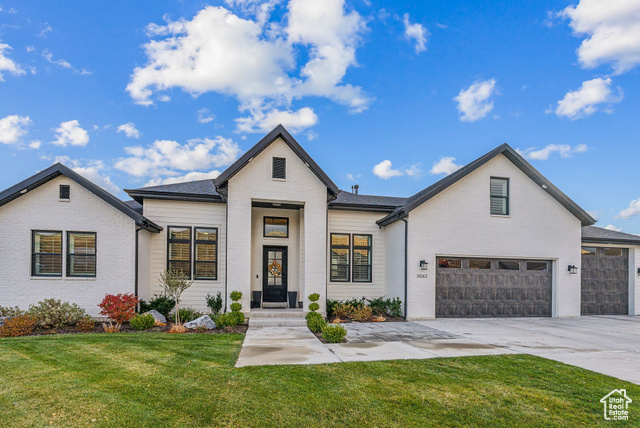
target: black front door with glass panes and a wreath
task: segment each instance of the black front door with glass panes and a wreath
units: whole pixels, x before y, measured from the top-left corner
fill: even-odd
[[[287,247],[262,249],[262,301],[287,301]]]

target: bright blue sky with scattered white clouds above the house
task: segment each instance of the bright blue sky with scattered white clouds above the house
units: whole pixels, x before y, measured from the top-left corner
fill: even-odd
[[[0,188],[213,178],[277,124],[410,196],[506,142],[640,234],[640,0],[0,0]]]

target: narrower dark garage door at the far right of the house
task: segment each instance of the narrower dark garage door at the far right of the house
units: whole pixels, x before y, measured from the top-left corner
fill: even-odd
[[[629,313],[628,251],[582,247],[582,315]]]

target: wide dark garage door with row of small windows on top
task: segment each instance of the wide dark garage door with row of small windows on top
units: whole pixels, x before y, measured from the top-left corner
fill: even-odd
[[[436,316],[549,317],[551,261],[438,258]]]

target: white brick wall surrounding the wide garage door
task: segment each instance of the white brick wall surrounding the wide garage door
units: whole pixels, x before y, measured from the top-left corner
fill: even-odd
[[[489,214],[489,179],[510,178],[510,216]],[[503,155],[409,214],[408,316],[435,317],[436,256],[554,260],[554,316],[580,315],[580,221]],[[428,278],[417,278],[420,260]]]

